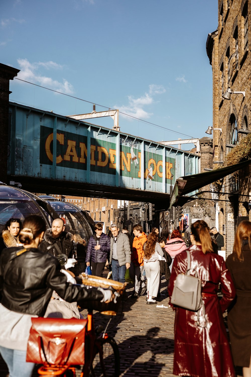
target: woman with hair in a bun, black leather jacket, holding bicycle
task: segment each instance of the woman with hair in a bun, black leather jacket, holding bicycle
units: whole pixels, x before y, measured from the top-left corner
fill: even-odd
[[[0,257],[0,353],[9,377],[32,375],[34,364],[26,362],[31,318],[44,316],[53,290],[65,301],[79,305],[85,300],[110,302],[113,297],[110,290],[67,283],[58,260],[38,249],[45,230],[40,216],[27,217],[19,233],[23,246],[5,248]]]

